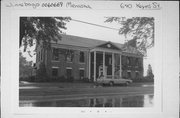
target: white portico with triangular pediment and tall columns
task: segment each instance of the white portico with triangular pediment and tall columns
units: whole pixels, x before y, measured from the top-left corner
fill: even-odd
[[[90,49],[89,78],[94,81],[101,75],[122,76],[122,51],[111,42]]]

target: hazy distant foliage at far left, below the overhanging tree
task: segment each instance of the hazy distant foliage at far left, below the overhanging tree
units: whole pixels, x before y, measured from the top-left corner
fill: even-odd
[[[29,78],[32,76],[32,61],[26,61],[26,58],[22,56],[22,53],[19,53],[19,77],[20,78]]]

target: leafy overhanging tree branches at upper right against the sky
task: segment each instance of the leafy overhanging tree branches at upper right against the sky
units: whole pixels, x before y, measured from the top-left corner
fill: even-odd
[[[146,50],[154,46],[154,18],[153,17],[107,17],[105,22],[118,22],[119,34],[129,39],[126,43],[146,55]]]

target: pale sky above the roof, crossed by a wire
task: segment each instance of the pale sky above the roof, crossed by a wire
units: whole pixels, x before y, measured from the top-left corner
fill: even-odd
[[[84,16],[78,17],[74,16],[71,17],[75,20],[81,20],[88,23],[98,24],[106,27],[116,28],[119,29],[120,25],[116,22],[113,23],[105,23],[106,20],[105,16]],[[123,35],[118,34],[118,30],[98,27],[94,25],[89,25],[81,22],[70,21],[67,24],[67,31],[66,34],[82,36],[86,38],[93,38],[98,40],[105,40],[105,41],[112,41],[118,43],[124,43],[125,38]]]

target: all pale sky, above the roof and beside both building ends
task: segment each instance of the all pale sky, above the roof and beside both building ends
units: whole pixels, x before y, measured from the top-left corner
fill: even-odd
[[[88,23],[93,23],[93,24],[98,24],[106,27],[111,27],[111,28],[120,28],[120,24],[117,22],[112,22],[112,23],[105,23],[104,21],[106,20],[106,16],[104,15],[82,15],[82,14],[72,14],[71,18],[75,20],[80,20]],[[117,43],[124,43],[125,42],[125,37],[124,35],[120,35],[118,33],[118,30],[113,30],[113,29],[108,29],[108,28],[103,28],[103,27],[98,27],[94,25],[89,25],[77,21],[71,20],[66,24],[67,29],[62,30],[68,35],[74,35],[74,36],[80,36],[80,37],[86,37],[86,38],[92,38],[92,39],[98,39],[98,40],[104,40],[104,41],[111,41],[111,42],[117,42]],[[33,49],[28,48],[28,50],[31,51],[31,55],[33,55]],[[147,57],[144,58],[144,74],[147,72],[147,67],[148,64],[151,64],[152,69],[153,69],[153,48],[148,49],[147,52]],[[35,63],[35,56],[30,57],[29,54],[23,53],[23,55],[26,57],[28,61],[33,61]]]

